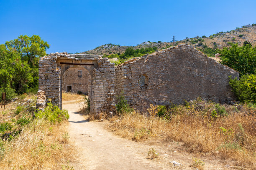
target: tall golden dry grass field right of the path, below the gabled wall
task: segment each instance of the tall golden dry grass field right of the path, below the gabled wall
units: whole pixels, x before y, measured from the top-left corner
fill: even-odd
[[[110,118],[108,128],[136,141],[150,138],[165,143],[182,142],[190,153],[235,160],[237,166],[253,170],[256,168],[256,108],[224,107],[228,115],[216,114],[215,104],[198,100],[172,107],[165,117],[158,117],[154,116],[156,108],[151,106],[149,114],[134,111]]]

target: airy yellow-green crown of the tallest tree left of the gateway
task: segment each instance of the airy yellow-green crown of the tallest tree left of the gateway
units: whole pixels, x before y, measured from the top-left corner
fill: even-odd
[[[46,50],[50,47],[39,35],[20,35],[17,39],[5,42],[5,46],[8,50],[20,53],[21,59],[29,65],[38,65],[38,57],[46,55]]]

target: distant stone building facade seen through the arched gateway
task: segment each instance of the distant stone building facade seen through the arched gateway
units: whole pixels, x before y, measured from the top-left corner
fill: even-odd
[[[81,71],[81,77],[78,76],[78,71]],[[72,92],[82,92],[88,95],[89,86],[91,84],[90,73],[83,67],[72,67],[64,72],[62,77],[62,90],[67,92],[67,85],[72,86]]]

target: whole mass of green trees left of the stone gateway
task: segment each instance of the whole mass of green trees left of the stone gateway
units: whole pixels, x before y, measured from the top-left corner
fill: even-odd
[[[38,90],[38,60],[49,44],[38,35],[20,35],[0,45],[0,92],[11,99],[15,93]]]

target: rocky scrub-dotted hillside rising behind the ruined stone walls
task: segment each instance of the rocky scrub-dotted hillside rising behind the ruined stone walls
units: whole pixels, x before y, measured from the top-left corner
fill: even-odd
[[[209,37],[206,36],[196,36],[193,38],[186,38],[184,40],[180,40],[175,42],[175,45],[179,44],[191,44],[194,45],[199,50],[202,50],[207,55],[213,55],[215,53],[216,48],[228,47],[228,42],[238,43],[238,45],[243,45],[244,41],[251,42],[254,46],[256,45],[256,24],[245,25],[242,28],[236,28],[235,30],[227,31],[227,32],[217,32]],[[169,47],[173,45],[173,42],[143,42],[136,46],[121,46],[114,44],[105,44],[99,47],[96,47],[93,50],[81,52],[81,54],[101,54],[101,55],[110,55],[110,54],[118,54],[125,52],[125,49],[128,47],[133,47],[134,50],[146,47],[157,47],[159,50]],[[210,52],[209,52],[210,51]]]

